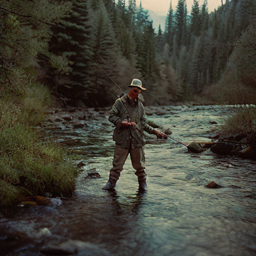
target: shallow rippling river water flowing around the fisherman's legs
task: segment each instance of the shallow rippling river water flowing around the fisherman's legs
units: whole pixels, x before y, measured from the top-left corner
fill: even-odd
[[[210,140],[228,108],[147,107],[147,120],[182,142]],[[175,141],[147,137],[148,191],[140,193],[130,159],[112,192],[114,143],[107,109],[91,109],[87,127],[47,128],[85,164],[75,197],[58,206],[15,207],[0,217],[2,255],[256,255],[255,161],[194,154]],[[78,161],[77,161],[78,162]],[[100,178],[86,178],[98,172]],[[215,181],[219,188],[205,185]]]

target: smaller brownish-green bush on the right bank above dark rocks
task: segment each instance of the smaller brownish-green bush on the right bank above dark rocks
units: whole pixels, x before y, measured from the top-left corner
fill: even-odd
[[[223,134],[244,134],[247,143],[256,144],[256,105],[238,105],[220,127]]]

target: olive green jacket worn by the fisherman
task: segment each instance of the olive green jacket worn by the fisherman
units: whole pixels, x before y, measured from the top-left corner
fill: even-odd
[[[128,121],[133,121],[136,123],[135,129],[130,127],[131,135],[135,139],[134,144],[136,146],[144,145],[145,138],[143,136],[143,130],[151,134],[153,127],[145,122],[144,106],[139,99],[137,99],[137,102],[133,105],[127,94],[116,99],[109,112],[108,120],[116,126],[113,132],[113,140],[121,147],[129,147],[130,138],[128,127],[123,127],[121,125],[121,121],[123,119],[128,119],[127,111],[122,103],[129,113],[130,120]]]

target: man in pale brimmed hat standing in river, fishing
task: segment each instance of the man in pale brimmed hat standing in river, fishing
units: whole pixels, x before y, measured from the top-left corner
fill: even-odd
[[[167,135],[154,129],[145,122],[144,107],[138,99],[138,94],[146,90],[142,82],[134,78],[128,85],[128,94],[116,99],[108,120],[116,127],[113,132],[115,141],[113,167],[110,169],[107,183],[102,187],[104,190],[112,190],[119,179],[123,164],[130,154],[132,167],[136,170],[139,190],[147,190],[145,169],[143,130],[149,134],[155,134],[157,138],[167,139]]]

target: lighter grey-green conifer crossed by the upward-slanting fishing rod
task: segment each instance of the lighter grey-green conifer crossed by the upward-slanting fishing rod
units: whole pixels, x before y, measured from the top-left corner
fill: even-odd
[[[112,86],[108,75],[117,80],[122,56],[105,5],[101,3],[94,14],[93,58],[100,68],[94,69],[93,94],[89,99],[92,105],[107,105],[116,99],[116,87]]]

